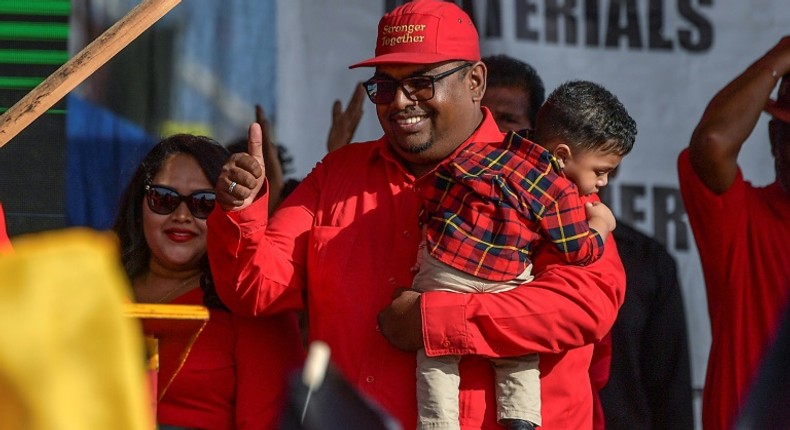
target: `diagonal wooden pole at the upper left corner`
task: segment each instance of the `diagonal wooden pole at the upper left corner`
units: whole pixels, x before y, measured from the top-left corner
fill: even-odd
[[[0,115],[0,147],[139,37],[181,0],[143,0]]]

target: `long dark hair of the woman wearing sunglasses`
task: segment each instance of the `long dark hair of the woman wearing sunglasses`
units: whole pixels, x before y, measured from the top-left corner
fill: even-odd
[[[162,169],[165,160],[175,154],[194,157],[212,186],[216,185],[222,165],[230,155],[224,146],[213,139],[191,134],[175,134],[167,137],[148,152],[121,196],[118,215],[113,225],[113,230],[121,242],[121,262],[129,279],[134,279],[148,270],[151,259],[151,248],[145,241],[143,233],[145,186],[151,184]],[[204,291],[206,305],[224,307],[214,292],[207,255],[200,259],[200,268],[203,271],[200,285]]]

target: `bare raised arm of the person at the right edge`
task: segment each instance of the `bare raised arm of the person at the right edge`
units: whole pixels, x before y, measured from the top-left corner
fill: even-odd
[[[741,146],[752,133],[779,78],[790,72],[790,36],[721,89],[710,101],[691,136],[694,171],[721,194],[735,180]]]

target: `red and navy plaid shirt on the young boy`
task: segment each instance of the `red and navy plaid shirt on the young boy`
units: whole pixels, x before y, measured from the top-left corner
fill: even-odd
[[[541,241],[569,263],[603,254],[576,186],[546,149],[514,132],[502,142],[472,142],[423,188],[421,221],[431,255],[491,281],[520,275]]]

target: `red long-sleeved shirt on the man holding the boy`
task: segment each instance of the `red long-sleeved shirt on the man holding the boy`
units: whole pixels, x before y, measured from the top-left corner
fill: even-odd
[[[472,138],[497,136],[486,110]],[[328,154],[271,220],[265,196],[237,212],[218,207],[208,220],[223,301],[258,315],[306,306],[310,338],[327,342],[351,384],[407,429],[417,422],[415,354],[391,346],[376,330],[376,316],[396,288],[412,283],[424,185],[381,138]],[[424,293],[425,347],[431,355],[541,353],[542,428],[589,429],[591,343],[614,323],[625,275],[611,240],[589,266],[559,262],[538,252],[536,279],[504,293]],[[462,428],[499,428],[486,358],[462,360],[460,410]]]

